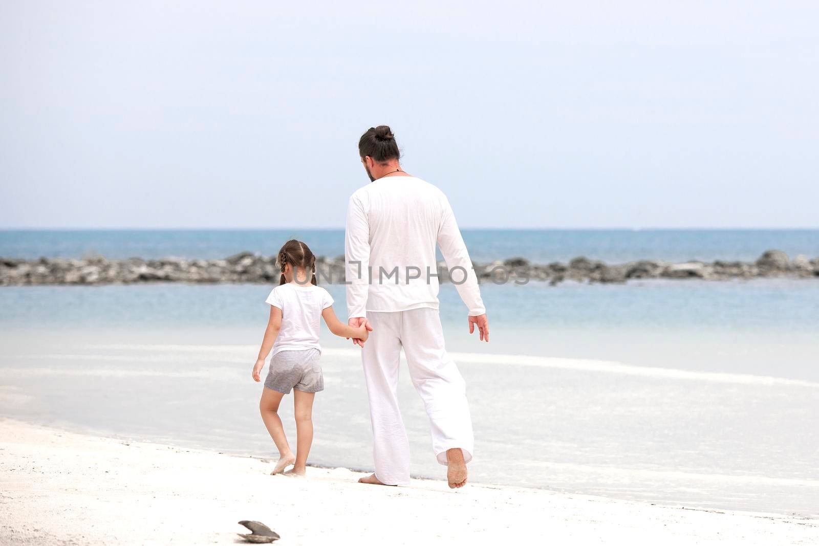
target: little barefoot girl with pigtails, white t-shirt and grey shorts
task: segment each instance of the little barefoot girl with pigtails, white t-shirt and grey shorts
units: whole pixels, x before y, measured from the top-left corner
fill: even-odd
[[[278,251],[278,266],[282,277],[270,295],[270,319],[261,342],[259,359],[253,367],[253,379],[260,381],[265,359],[273,349],[270,368],[261,393],[259,409],[270,437],[278,448],[278,463],[271,474],[284,472],[304,476],[307,453],[313,443],[312,409],[315,393],[324,390],[319,356],[319,318],[324,317],[330,332],[336,336],[366,341],[366,327],[342,324],[333,313],[333,298],[324,288],[316,286],[315,256],[301,241],[287,241]],[[308,278],[310,281],[308,282]],[[296,417],[296,456],[287,444],[278,404],[293,389],[293,407]]]

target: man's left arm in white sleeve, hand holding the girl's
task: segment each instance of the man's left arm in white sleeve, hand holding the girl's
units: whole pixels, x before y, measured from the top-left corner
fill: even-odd
[[[346,237],[344,239],[345,278],[347,283],[347,318],[352,327],[367,324],[367,292],[369,291],[369,222],[364,205],[355,196],[347,205]],[[353,343],[364,345],[354,339]]]

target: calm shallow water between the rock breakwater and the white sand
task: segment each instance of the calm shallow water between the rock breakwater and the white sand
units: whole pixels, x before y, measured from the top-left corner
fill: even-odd
[[[756,244],[786,247],[774,242]],[[250,377],[270,288],[2,287],[0,414],[272,458]],[[343,287],[328,290],[343,318]],[[474,481],[819,517],[817,280],[532,282],[482,294],[489,344],[468,334],[454,287],[441,287],[473,413]],[[326,329],[322,343],[310,460],[371,470],[359,355]],[[402,372],[412,472],[441,477]]]

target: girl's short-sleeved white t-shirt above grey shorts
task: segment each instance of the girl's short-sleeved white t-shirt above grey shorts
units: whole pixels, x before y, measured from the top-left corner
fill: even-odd
[[[321,351],[321,312],[333,305],[328,291],[313,284],[287,282],[270,291],[265,302],[282,309],[282,327],[273,345],[273,356],[283,350]]]

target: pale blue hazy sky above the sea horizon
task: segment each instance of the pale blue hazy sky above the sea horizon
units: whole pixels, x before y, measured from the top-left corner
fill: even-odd
[[[0,227],[819,227],[819,3],[2,2]],[[170,2],[167,2],[170,3]]]

